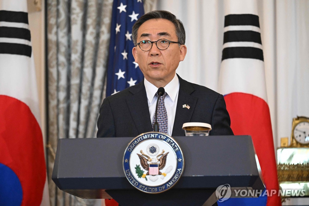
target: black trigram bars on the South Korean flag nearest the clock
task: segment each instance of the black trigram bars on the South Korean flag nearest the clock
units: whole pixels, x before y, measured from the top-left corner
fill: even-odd
[[[259,16],[230,14],[224,19],[222,61],[250,58],[264,61]]]

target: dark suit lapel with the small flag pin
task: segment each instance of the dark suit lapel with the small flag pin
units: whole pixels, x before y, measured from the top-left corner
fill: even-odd
[[[178,76],[178,74],[177,74]],[[190,122],[197,98],[192,97],[190,94],[195,90],[191,83],[179,78],[179,94],[177,100],[177,108],[175,121],[173,126],[172,136],[184,136],[184,130],[182,129],[182,125],[186,122]],[[183,105],[189,105],[190,109],[183,108]]]

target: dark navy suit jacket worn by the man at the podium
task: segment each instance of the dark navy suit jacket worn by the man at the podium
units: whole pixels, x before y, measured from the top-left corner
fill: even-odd
[[[233,135],[225,101],[219,93],[179,78],[180,87],[172,136],[184,136],[186,122],[211,125],[210,135]],[[190,109],[183,108],[188,104]],[[152,131],[144,81],[103,100],[97,137],[136,137]]]

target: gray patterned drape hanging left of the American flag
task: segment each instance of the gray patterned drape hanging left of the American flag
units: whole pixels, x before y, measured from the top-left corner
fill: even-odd
[[[96,136],[104,97],[112,0],[48,0],[48,180],[51,206],[95,205],[51,180],[59,138]]]

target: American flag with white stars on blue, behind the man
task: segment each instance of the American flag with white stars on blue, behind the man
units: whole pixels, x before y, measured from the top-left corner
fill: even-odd
[[[132,55],[132,26],[142,15],[142,0],[113,2],[106,96],[133,86],[144,77]]]

